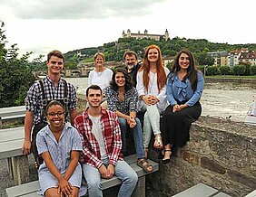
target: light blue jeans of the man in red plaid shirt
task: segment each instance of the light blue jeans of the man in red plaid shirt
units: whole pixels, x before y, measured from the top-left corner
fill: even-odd
[[[103,164],[107,166],[108,159],[104,159]],[[83,173],[88,184],[89,197],[103,197],[100,171],[91,165],[83,164]],[[114,175],[122,181],[118,197],[132,196],[138,181],[138,176],[133,171],[133,168],[125,161],[118,160],[114,167]]]

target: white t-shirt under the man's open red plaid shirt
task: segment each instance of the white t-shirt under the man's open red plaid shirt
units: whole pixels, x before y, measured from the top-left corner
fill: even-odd
[[[101,116],[99,117],[92,117],[91,115],[89,115],[89,118],[92,120],[93,122],[93,128],[92,128],[92,133],[94,134],[97,142],[99,143],[100,146],[100,152],[101,152],[101,160],[108,158],[107,154],[106,154],[106,149],[105,149],[105,145],[104,145],[104,139],[103,139],[103,129],[102,129],[102,125],[101,125]]]

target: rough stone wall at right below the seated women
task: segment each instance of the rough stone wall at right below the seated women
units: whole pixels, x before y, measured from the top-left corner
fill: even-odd
[[[157,161],[158,152],[150,150]],[[147,177],[147,196],[172,196],[205,183],[231,196],[256,189],[256,127],[201,117],[192,124],[191,140],[169,164]]]

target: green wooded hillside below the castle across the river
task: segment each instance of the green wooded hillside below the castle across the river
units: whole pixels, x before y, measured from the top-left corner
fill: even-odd
[[[123,61],[123,52],[126,50],[133,50],[134,52],[137,52],[139,59],[142,59],[145,48],[151,44],[156,44],[160,47],[162,57],[164,59],[173,57],[182,49],[188,49],[194,54],[199,65],[209,66],[213,65],[214,59],[208,55],[207,52],[229,52],[241,48],[256,51],[256,44],[215,43],[208,42],[205,39],[186,39],[175,37],[168,41],[163,39],[161,41],[154,41],[146,38],[140,40],[135,38],[119,38],[117,42],[104,43],[103,46],[67,52],[65,54],[65,60],[69,61],[69,59],[74,57],[74,54],[81,53],[82,56],[80,56],[77,61],[86,61],[87,59],[91,59],[95,52],[104,52],[107,61]]]

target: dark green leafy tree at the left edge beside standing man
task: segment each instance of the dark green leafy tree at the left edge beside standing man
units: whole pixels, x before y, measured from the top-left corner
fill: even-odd
[[[24,105],[26,91],[35,80],[27,61],[31,52],[18,59],[16,44],[5,49],[4,25],[0,28],[0,108]]]

